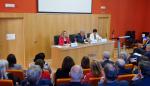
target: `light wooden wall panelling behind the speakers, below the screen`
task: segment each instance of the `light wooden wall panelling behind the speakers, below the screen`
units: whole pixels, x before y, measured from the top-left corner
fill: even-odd
[[[23,17],[26,63],[30,63],[38,52],[45,52],[46,58],[50,59],[53,37],[59,35],[63,30],[73,34],[80,30],[92,32],[93,28],[97,28],[103,36],[106,34],[105,30],[109,34],[110,29],[110,15],[107,14],[0,13],[0,18],[7,17]]]

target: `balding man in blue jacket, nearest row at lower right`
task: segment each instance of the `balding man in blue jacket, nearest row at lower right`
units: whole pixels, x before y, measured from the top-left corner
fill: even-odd
[[[108,63],[104,67],[104,77],[101,78],[100,82],[98,83],[98,86],[128,86],[127,81],[117,81],[117,68],[111,64]]]

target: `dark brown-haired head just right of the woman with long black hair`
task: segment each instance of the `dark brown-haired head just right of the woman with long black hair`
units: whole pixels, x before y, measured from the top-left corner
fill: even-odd
[[[84,56],[81,60],[81,67],[83,69],[88,69],[90,68],[90,59],[88,56]]]

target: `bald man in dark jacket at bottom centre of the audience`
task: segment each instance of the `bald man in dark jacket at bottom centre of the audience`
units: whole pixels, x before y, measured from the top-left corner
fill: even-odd
[[[71,82],[60,86],[90,86],[81,81],[83,78],[83,70],[79,65],[75,65],[70,70]]]

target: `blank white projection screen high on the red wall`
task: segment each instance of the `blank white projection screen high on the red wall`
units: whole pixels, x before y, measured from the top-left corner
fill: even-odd
[[[38,12],[91,13],[92,0],[38,0]]]

